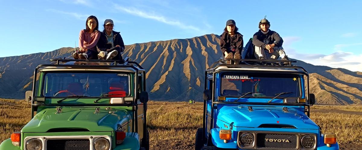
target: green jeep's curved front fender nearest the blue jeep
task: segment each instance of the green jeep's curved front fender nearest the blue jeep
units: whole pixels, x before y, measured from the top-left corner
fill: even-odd
[[[10,141],[11,142],[11,141]],[[138,133],[127,132],[122,144],[117,144],[113,150],[139,150],[140,139]]]

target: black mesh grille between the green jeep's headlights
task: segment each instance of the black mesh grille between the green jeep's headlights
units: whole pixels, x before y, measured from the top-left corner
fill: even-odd
[[[88,139],[49,139],[46,142],[48,150],[89,150]]]

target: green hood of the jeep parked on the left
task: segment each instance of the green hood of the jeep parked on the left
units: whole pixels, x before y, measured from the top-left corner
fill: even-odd
[[[115,131],[117,124],[130,121],[126,109],[101,108],[99,113],[95,107],[63,107],[61,113],[55,108],[41,110],[21,129],[21,132],[47,132],[49,129],[83,128],[89,131]]]

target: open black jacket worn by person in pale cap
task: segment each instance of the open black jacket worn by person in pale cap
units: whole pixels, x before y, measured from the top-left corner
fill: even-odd
[[[119,34],[119,32],[113,32],[113,46],[119,45],[121,46],[121,50],[123,51],[125,49],[125,44],[123,43],[123,39],[122,36]],[[111,44],[107,44],[108,40],[107,40],[107,36],[106,36],[106,31],[103,30],[103,32],[101,32],[101,37],[99,38],[99,41],[97,43],[97,48],[99,51],[106,51],[107,49],[111,49],[112,45]]]

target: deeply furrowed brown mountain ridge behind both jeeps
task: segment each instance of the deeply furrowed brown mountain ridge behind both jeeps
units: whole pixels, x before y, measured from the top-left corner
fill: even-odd
[[[202,101],[205,69],[222,55],[220,36],[208,34],[186,39],[126,45],[122,56],[139,62],[147,71],[150,99],[162,101]],[[31,90],[34,68],[50,63],[56,56],[71,56],[74,48],[63,47],[46,53],[0,58],[0,97],[20,98]],[[305,63],[310,73],[311,93],[318,104],[362,104],[362,72]]]

